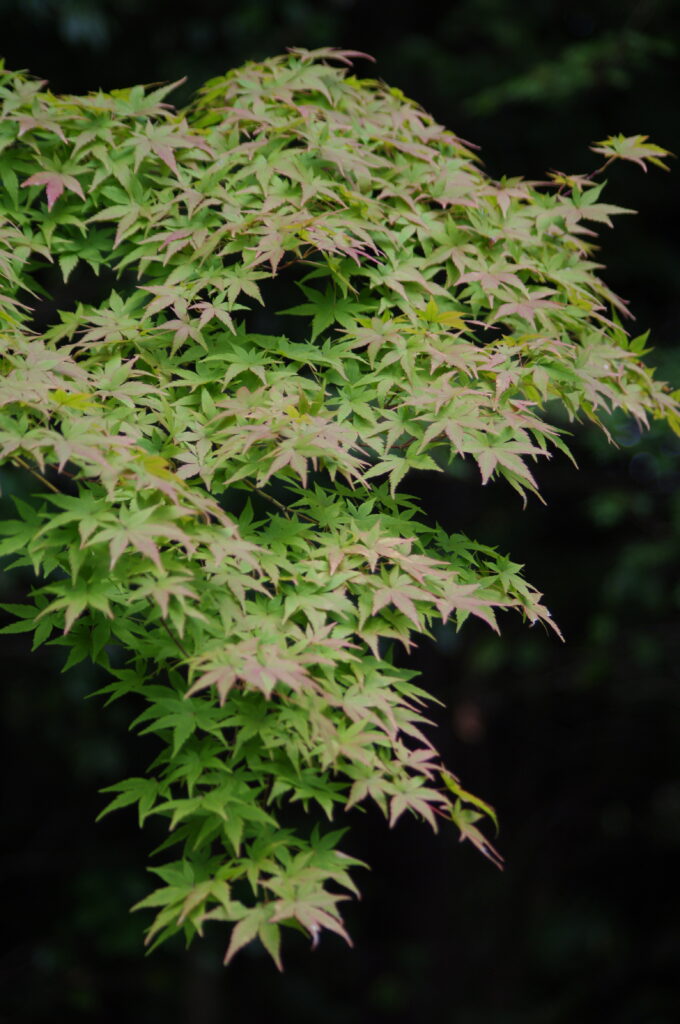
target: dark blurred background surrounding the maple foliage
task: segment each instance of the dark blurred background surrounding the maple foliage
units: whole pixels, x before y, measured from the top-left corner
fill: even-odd
[[[187,75],[181,102],[289,45],[369,51],[377,68],[359,74],[479,143],[494,176],[590,171],[588,144],[617,132],[680,152],[679,43],[672,0],[193,0],[174,13],[163,0],[0,0],[0,55],[54,91]],[[608,202],[640,213],[600,254],[676,386],[679,172],[611,168]],[[143,958],[127,908],[146,890],[153,828],[127,812],[93,823],[97,791],[152,754],[127,731],[135,709],[85,699],[99,680],[60,676],[58,647],[31,655],[3,637],[0,1020],[677,1024],[680,444],[611,429],[618,447],[577,430],[580,472],[542,466],[545,508],[466,476],[409,480],[443,525],[525,563],[566,644],[509,620],[501,639],[472,625],[422,644],[412,660],[445,705],[437,741],[497,807],[506,870],[453,828],[391,833],[355,812],[345,846],[373,870],[347,908],[354,949],[325,937],[311,952],[291,935],[284,975],[255,947],[223,970],[223,933]],[[0,575],[0,599],[16,590]]]

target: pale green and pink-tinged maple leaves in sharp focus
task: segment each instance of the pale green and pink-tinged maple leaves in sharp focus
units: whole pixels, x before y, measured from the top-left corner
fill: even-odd
[[[181,112],[172,86],[57,96],[0,67],[0,458],[40,481],[0,525],[38,578],[9,630],[143,701],[160,753],[103,813],[168,821],[148,941],[227,922],[227,962],[259,937],[280,965],[282,925],[348,938],[358,861],[296,804],[453,820],[498,859],[392,645],[499,609],[552,624],[407,474],[468,459],[538,493],[530,463],[567,452],[551,399],[680,427],[591,259],[622,212],[602,185],[491,180],[353,55],[250,63]],[[115,288],[45,326],[50,264]]]

